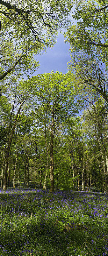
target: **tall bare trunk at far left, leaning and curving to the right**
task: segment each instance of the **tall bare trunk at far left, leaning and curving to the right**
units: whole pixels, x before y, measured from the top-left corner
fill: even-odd
[[[18,109],[18,112],[16,114],[15,122],[13,124],[13,128],[12,128],[11,135],[10,135],[10,138],[9,138],[8,146],[7,146],[7,149],[6,149],[6,160],[5,160],[5,167],[4,167],[4,188],[3,188],[3,190],[5,190],[7,188],[7,169],[8,169],[9,151],[10,151],[11,142],[12,142],[12,139],[13,139],[13,134],[14,134],[14,130],[15,130],[15,127],[16,127],[16,123],[17,123],[18,114],[20,112],[21,107],[22,107],[22,104],[20,105],[20,107]]]

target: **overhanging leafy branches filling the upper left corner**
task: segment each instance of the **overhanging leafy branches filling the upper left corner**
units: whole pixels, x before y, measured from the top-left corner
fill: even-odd
[[[68,1],[0,0],[0,80],[15,69],[33,70],[33,54],[53,46],[57,31],[68,22]]]

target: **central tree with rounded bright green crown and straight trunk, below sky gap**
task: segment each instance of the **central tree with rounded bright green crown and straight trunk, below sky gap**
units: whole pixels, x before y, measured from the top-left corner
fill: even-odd
[[[34,95],[37,100],[50,112],[50,192],[54,192],[54,131],[58,123],[62,124],[67,114],[77,112],[74,101],[76,94],[70,73],[62,75],[52,71],[51,74],[39,74],[29,79],[29,83],[35,86]]]

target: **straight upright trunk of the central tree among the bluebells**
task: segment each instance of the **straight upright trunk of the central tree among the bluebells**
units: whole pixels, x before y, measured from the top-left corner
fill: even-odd
[[[54,113],[52,113],[52,122],[51,122],[51,140],[50,140],[50,193],[54,192]]]

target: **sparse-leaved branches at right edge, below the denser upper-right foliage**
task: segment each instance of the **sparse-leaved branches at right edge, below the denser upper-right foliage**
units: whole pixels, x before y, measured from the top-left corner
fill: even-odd
[[[85,54],[71,54],[71,61],[68,63],[69,70],[73,73],[73,80],[80,88],[80,94],[94,91],[101,95],[108,103],[108,72],[104,70],[102,63],[95,58]],[[77,83],[76,83],[77,82]]]

